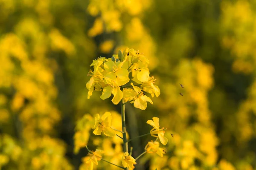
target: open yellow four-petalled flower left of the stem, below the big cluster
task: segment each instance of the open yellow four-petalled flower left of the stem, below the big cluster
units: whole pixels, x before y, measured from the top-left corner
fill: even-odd
[[[112,116],[110,112],[106,112],[102,115],[100,118],[99,114],[96,114],[95,117],[95,125],[93,129],[93,134],[95,135],[101,135],[102,131],[106,136],[113,137],[116,135],[115,130],[111,128],[112,122],[111,122]]]

